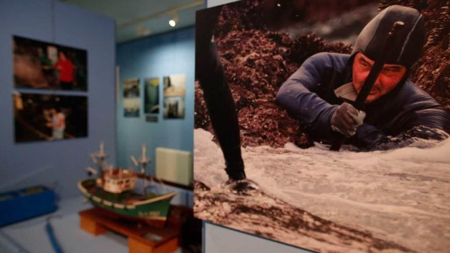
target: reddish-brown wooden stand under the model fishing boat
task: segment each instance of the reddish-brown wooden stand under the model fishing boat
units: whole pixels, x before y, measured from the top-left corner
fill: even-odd
[[[80,227],[95,236],[114,231],[128,237],[129,253],[170,253],[178,248],[179,227],[153,228],[136,221],[105,215],[92,208],[79,212]]]

